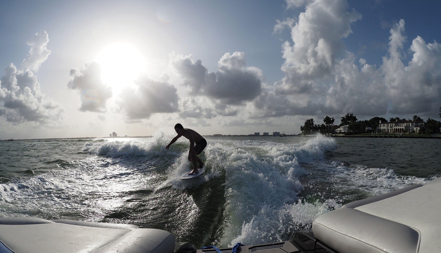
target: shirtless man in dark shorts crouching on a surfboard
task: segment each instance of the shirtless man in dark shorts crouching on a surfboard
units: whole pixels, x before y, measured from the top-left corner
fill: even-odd
[[[193,162],[193,170],[188,175],[199,173],[198,169],[202,169],[204,163],[196,155],[201,154],[202,150],[207,147],[207,141],[198,132],[184,128],[181,124],[175,125],[175,131],[178,134],[172,141],[165,147],[168,149],[170,145],[176,142],[181,136],[184,136],[190,141],[190,150],[188,151],[188,161]],[[196,146],[194,145],[196,143]],[[198,166],[199,163],[199,166]]]

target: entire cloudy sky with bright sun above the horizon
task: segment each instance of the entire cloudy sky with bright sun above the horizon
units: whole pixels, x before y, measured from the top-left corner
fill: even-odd
[[[438,118],[441,1],[0,2],[0,139]]]

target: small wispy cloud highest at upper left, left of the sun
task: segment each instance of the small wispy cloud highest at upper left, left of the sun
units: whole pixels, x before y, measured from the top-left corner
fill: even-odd
[[[45,30],[35,33],[34,37],[26,41],[26,43],[30,45],[30,50],[29,55],[22,62],[23,69],[34,72],[38,71],[41,63],[48,59],[48,56],[51,53],[51,51],[46,48],[48,42],[49,35]]]

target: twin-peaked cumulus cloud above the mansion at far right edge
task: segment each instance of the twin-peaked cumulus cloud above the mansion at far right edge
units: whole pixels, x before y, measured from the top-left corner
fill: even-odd
[[[402,62],[404,20],[390,30],[389,55],[383,57],[381,72],[392,102],[392,114],[416,114],[441,104],[441,44],[426,43],[418,36],[412,40],[413,52],[407,66]],[[421,103],[423,102],[424,103]]]

